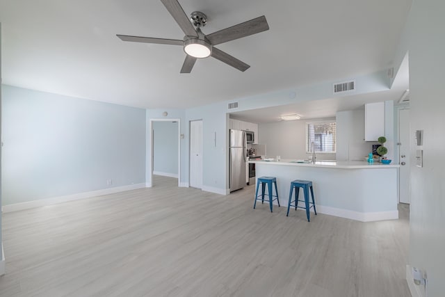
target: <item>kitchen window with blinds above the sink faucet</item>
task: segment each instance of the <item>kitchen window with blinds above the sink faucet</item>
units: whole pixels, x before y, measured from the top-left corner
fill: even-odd
[[[314,145],[317,153],[335,153],[335,121],[306,122],[306,152],[312,152]]]

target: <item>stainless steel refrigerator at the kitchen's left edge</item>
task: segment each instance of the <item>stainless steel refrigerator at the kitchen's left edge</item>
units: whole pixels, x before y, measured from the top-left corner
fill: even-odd
[[[230,191],[236,191],[246,185],[245,163],[247,154],[247,140],[245,132],[230,129],[229,131],[229,162],[230,162]]]

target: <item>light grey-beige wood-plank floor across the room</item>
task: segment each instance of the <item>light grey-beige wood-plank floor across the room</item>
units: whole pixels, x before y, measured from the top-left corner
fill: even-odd
[[[410,296],[401,219],[361,223],[153,188],[3,214],[0,296]],[[316,191],[316,189],[315,189]]]

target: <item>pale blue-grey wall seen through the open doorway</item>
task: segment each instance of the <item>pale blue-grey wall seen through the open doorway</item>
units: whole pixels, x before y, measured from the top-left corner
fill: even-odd
[[[178,122],[153,122],[154,174],[178,176]]]

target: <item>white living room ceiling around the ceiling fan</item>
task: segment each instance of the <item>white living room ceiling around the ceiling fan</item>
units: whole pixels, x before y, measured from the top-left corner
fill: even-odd
[[[179,0],[213,33],[266,15],[269,31],[217,47],[251,65],[214,58],[179,74],[174,45],[115,34],[182,39],[159,0],[0,0],[3,83],[144,108],[187,108],[385,70],[412,0]],[[309,108],[310,106],[307,106]]]

